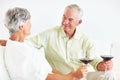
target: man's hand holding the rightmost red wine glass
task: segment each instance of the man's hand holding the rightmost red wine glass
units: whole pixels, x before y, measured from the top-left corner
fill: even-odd
[[[111,70],[113,68],[113,62],[112,60],[108,61],[102,61],[97,65],[98,71],[105,71],[105,70]]]

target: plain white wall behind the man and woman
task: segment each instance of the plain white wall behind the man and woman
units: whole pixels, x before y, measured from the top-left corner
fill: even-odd
[[[72,3],[83,9],[81,30],[96,41],[101,53],[109,51],[110,44],[120,40],[120,0],[0,0],[0,39],[9,35],[3,22],[9,8],[24,7],[30,11],[34,35],[60,25],[65,6]]]

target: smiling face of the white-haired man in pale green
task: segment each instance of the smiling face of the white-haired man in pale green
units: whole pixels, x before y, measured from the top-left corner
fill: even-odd
[[[62,18],[62,27],[66,33],[74,32],[79,25],[79,12],[75,9],[66,8]]]

